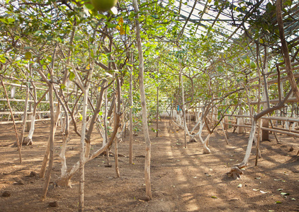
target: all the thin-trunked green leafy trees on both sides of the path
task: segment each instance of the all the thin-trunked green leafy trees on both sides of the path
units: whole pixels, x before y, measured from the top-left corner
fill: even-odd
[[[56,183],[68,186],[74,173],[80,172],[79,208],[83,211],[84,164],[107,151],[113,141],[117,144],[123,126],[130,126],[132,136],[133,113],[135,120],[140,119],[142,114],[140,123],[146,143],[145,181],[147,196],[152,199],[147,114],[157,117],[157,105],[162,103],[170,112],[179,106],[176,124],[186,131],[189,139],[198,136],[204,153],[210,153],[210,134],[216,126],[222,125],[225,114],[248,111],[252,119],[248,150],[243,162],[232,170],[232,175],[239,176],[242,173],[239,168],[248,163],[258,120],[283,107],[292,92],[298,98],[291,65],[297,58],[298,49],[296,45],[289,45],[292,48],[290,52],[293,51],[293,61],[290,61],[288,46],[283,40],[286,37],[283,25],[275,23],[273,29],[259,28],[259,25],[265,25],[264,19],[256,18],[263,15],[257,9],[260,4],[239,2],[244,11],[243,4],[247,4],[249,12],[242,16],[243,24],[237,26],[242,28],[244,35],[232,42],[232,36],[214,24],[201,35],[196,34],[197,28],[190,28],[189,36],[185,36],[184,23],[179,21],[174,3],[119,1],[118,13],[115,14],[98,13],[90,4],[83,6],[83,1],[16,0],[1,4],[1,81],[22,84],[26,88],[23,99],[33,100],[30,133],[26,139],[22,136],[26,122],[23,119],[18,142],[20,158],[21,143],[34,142],[35,112],[45,96],[49,97],[50,136],[40,170],[40,177],[46,179],[42,199],[46,197],[50,182],[55,131],[60,120],[63,126],[62,168]],[[231,9],[225,2],[213,3],[219,12]],[[277,1],[277,4],[281,2]],[[278,23],[288,16],[286,10],[280,17],[281,8],[274,4],[266,5],[266,13],[277,13]],[[293,4],[286,2],[284,7],[293,8]],[[231,16],[234,18],[234,13]],[[244,25],[249,20],[252,21],[250,28]],[[219,38],[219,33],[224,37]],[[274,34],[276,39],[269,39],[269,35]],[[281,43],[281,49],[277,48],[278,43]],[[281,63],[282,59],[286,65]],[[285,79],[290,83],[283,83],[283,76],[279,76],[279,63],[286,67]],[[276,64],[277,70],[273,69]],[[271,76],[271,73],[276,75]],[[278,78],[278,86],[267,86],[270,76]],[[3,90],[6,87],[3,83]],[[38,92],[38,87],[44,90]],[[290,87],[292,89],[288,92]],[[278,105],[271,107],[269,96],[274,94],[269,94],[268,90],[274,90],[273,93],[278,90]],[[268,105],[261,106],[262,94]],[[1,98],[7,98],[4,105],[9,110],[6,107],[10,102],[9,95],[7,92],[1,95]],[[150,103],[150,107],[146,102]],[[24,117],[27,105],[28,101],[25,101]],[[12,107],[11,112],[14,109],[16,107]],[[188,129],[188,110],[201,112],[196,114],[198,128]],[[81,119],[79,124],[77,117]],[[121,127],[120,122],[123,122]],[[75,133],[81,138],[80,159],[72,167],[67,167],[65,151],[71,139],[70,124],[74,125]],[[261,123],[258,125],[261,126]],[[203,127],[209,132],[206,138],[201,136]],[[103,146],[92,152],[91,134],[95,130]],[[130,150],[132,163],[132,144]]]

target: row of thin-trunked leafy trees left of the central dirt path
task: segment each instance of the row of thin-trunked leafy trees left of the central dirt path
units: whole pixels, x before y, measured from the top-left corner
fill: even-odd
[[[9,4],[1,4],[1,12],[4,14],[1,18],[3,36],[1,81],[17,82],[26,88],[26,94],[23,95],[25,99],[23,127],[17,142],[20,160],[22,143],[33,142],[32,134],[38,105],[48,95],[50,135],[40,170],[40,177],[45,177],[41,199],[45,199],[50,183],[55,131],[57,123],[62,120],[61,176],[55,183],[70,186],[70,179],[79,171],[79,210],[83,211],[84,164],[107,151],[113,141],[117,146],[117,139],[123,131],[119,129],[120,118],[126,122],[126,118],[130,117],[132,135],[132,110],[135,110],[135,114],[139,117],[138,112],[142,109],[143,129],[145,132],[148,131],[145,80],[142,76],[145,66],[142,54],[152,53],[157,42],[152,44],[150,35],[143,32],[147,29],[155,32],[155,35],[162,35],[166,28],[157,30],[157,26],[152,26],[156,21],[155,16],[147,17],[149,9],[145,7],[141,7],[142,11],[139,13],[136,2],[135,9],[130,3],[123,2],[118,15],[98,13],[92,10],[90,5],[80,6],[80,4],[81,2],[73,4],[57,1],[10,1]],[[164,11],[157,7],[156,12],[162,14]],[[167,15],[168,13],[164,13],[162,16]],[[170,13],[170,16],[172,15]],[[140,22],[144,22],[142,30]],[[145,53],[142,50],[141,37],[148,41]],[[147,69],[150,69],[150,66],[147,66]],[[151,76],[155,74],[154,71],[148,73]],[[4,89],[2,95],[7,99],[4,105],[10,105],[13,101],[9,100],[4,83],[2,85]],[[44,92],[40,95],[36,92],[38,86],[44,88]],[[34,107],[30,128],[32,133],[26,141],[23,135],[29,97],[30,100],[34,100]],[[140,101],[141,107],[132,107],[133,100]],[[13,109],[9,108],[11,116],[14,117]],[[130,115],[125,117],[129,111]],[[78,116],[81,119],[80,126],[77,124]],[[71,139],[70,124],[74,124],[74,131],[80,136],[81,142],[79,161],[69,168],[65,151],[67,142]],[[94,129],[97,129],[98,136],[101,136],[103,146],[91,152],[91,134]],[[17,131],[16,136],[18,138]],[[152,199],[148,133],[145,141],[145,182],[147,196]],[[117,149],[115,155],[118,155],[116,151]],[[132,151],[130,151],[130,163],[132,163]]]

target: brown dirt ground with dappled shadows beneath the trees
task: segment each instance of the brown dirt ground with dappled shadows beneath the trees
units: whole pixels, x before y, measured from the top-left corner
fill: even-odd
[[[299,211],[298,138],[278,134],[281,143],[277,144],[270,135],[270,142],[261,143],[263,158],[258,166],[254,166],[253,148],[244,176],[233,180],[226,172],[243,159],[248,132],[232,134],[230,129],[227,145],[218,129],[210,137],[211,154],[204,155],[201,143],[188,143],[184,148],[184,132],[172,125],[169,133],[168,123],[159,122],[158,138],[150,131],[152,201],[144,201],[145,142],[142,132],[138,132],[133,138],[134,165],[128,163],[128,157],[121,157],[121,177],[115,177],[112,156],[112,167],[105,167],[103,156],[86,164],[85,211]],[[78,175],[72,178],[72,189],[49,189],[47,199],[40,201],[44,180],[29,175],[31,171],[40,171],[49,125],[41,122],[37,125],[33,146],[22,148],[21,165],[16,148],[5,146],[16,140],[13,126],[0,128],[0,211],[77,211]],[[58,127],[52,181],[60,176],[61,138]],[[92,151],[101,147],[96,135],[92,144]],[[119,153],[128,156],[128,136],[118,146]],[[78,151],[79,138],[72,134],[67,148],[68,167],[77,162]],[[7,192],[11,196],[3,196]],[[57,205],[49,206],[54,201]]]

